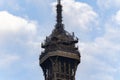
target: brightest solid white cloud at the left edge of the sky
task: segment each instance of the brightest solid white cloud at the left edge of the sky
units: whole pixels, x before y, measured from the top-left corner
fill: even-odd
[[[20,30],[35,32],[36,25],[34,22],[29,22],[23,18],[14,16],[6,11],[0,12],[0,33],[13,32],[17,33]]]

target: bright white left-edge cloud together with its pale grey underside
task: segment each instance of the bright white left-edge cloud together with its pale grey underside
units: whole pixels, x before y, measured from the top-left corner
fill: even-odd
[[[0,38],[4,39],[10,35],[34,35],[36,33],[36,22],[14,16],[7,11],[0,12]]]

